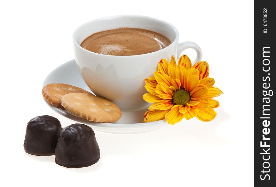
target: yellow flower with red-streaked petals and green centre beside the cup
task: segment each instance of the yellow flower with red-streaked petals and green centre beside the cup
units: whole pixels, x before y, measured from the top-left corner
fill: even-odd
[[[184,117],[188,120],[197,117],[208,122],[217,113],[213,108],[219,107],[219,102],[213,97],[222,92],[214,87],[215,80],[209,78],[209,65],[199,61],[192,66],[187,55],[182,55],[176,64],[174,55],[168,64],[161,59],[153,77],[145,79],[143,98],[153,103],[144,115],[144,122],[166,119],[174,125]]]

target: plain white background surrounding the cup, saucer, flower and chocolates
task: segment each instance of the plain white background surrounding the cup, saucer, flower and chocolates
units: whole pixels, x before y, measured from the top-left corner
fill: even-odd
[[[253,186],[253,1],[6,1],[1,19],[1,186]],[[53,112],[41,96],[45,77],[74,58],[72,33],[112,15],[157,17],[194,41],[224,94],[212,122],[196,118],[162,129],[115,135],[95,132],[101,158],[68,169],[54,156],[24,152],[27,122]],[[184,51],[191,59],[193,50]]]

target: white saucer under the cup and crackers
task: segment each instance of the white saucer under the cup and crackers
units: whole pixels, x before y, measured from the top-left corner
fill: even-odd
[[[43,86],[50,83],[71,84],[91,92],[91,90],[88,88],[83,78],[79,74],[79,71],[77,70],[77,67],[76,67],[75,60],[70,60],[64,63],[63,65],[60,65],[59,67],[57,67],[55,70],[53,70],[44,80]],[[67,112],[66,110],[56,108],[50,105],[47,101],[45,102],[55,112],[75,122],[89,125],[91,128],[93,128],[93,130],[97,130],[101,132],[108,132],[108,133],[114,133],[114,134],[135,134],[135,133],[153,131],[161,127],[164,127],[165,125],[168,125],[165,120],[142,123],[146,109],[141,111],[136,111],[136,112],[122,112],[122,117],[117,122],[114,122],[114,123],[99,123],[99,122],[91,122],[86,119],[74,116],[73,114]]]

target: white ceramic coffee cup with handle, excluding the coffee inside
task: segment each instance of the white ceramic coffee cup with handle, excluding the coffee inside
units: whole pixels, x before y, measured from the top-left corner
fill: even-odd
[[[102,55],[88,51],[81,42],[93,33],[118,27],[140,28],[163,34],[172,42],[164,49],[132,56]],[[196,50],[195,62],[201,60],[200,47],[190,41],[178,44],[178,31],[163,20],[136,15],[103,17],[79,26],[73,33],[74,55],[84,81],[92,92],[119,106],[122,111],[141,110],[149,106],[142,98],[147,93],[145,78],[153,76],[158,62],[171,55],[179,57],[187,48]]]

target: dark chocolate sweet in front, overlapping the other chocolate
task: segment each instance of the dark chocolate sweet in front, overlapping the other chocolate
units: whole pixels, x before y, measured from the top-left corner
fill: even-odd
[[[83,124],[65,127],[55,149],[55,162],[68,168],[93,165],[100,159],[100,149],[92,128]]]

